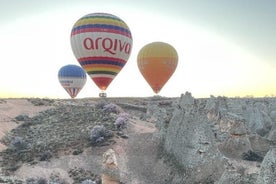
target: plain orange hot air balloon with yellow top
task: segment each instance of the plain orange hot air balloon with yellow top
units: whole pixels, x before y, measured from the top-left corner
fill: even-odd
[[[178,63],[176,50],[168,43],[153,42],[138,53],[138,68],[152,90],[158,94],[174,73]]]

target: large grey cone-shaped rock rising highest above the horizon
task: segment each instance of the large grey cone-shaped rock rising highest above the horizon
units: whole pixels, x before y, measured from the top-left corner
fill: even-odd
[[[224,171],[205,105],[190,93],[181,96],[166,132],[164,149],[180,164],[185,183],[214,182]]]

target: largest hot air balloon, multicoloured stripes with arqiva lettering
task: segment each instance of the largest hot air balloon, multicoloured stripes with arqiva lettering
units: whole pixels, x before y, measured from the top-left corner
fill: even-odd
[[[132,36],[119,17],[91,13],[74,24],[71,47],[82,68],[104,93],[130,56]]]

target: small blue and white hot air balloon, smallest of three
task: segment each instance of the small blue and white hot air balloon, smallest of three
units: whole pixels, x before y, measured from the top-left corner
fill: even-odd
[[[86,73],[80,66],[66,65],[59,69],[58,80],[71,98],[75,98],[86,83]]]

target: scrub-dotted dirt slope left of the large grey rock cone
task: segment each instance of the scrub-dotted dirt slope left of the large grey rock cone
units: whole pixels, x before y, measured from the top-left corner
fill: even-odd
[[[1,100],[3,114],[9,112],[4,107],[10,100]],[[147,166],[155,164],[160,142],[154,120],[147,116],[151,100],[20,99],[29,103],[25,108],[44,108],[35,116],[19,112],[10,117],[14,129],[1,140],[7,148],[0,153],[0,183],[101,183],[102,155],[108,148],[116,152],[121,183],[148,183],[154,173]],[[95,127],[99,131],[92,135]]]

